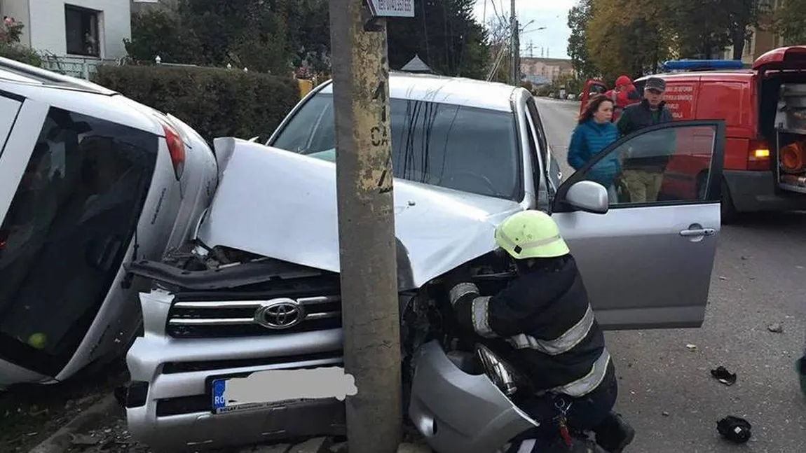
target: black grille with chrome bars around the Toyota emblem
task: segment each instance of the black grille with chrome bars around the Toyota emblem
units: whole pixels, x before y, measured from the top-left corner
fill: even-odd
[[[267,327],[259,310],[272,303],[293,300],[301,307],[300,319],[291,327]],[[341,296],[330,294],[298,298],[237,300],[183,300],[173,303],[168,315],[168,335],[177,338],[283,335],[342,326]]]

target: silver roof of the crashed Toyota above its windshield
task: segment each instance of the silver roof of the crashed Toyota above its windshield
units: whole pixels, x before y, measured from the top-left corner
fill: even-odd
[[[511,112],[513,85],[467,79],[464,77],[434,76],[410,72],[389,72],[389,97],[410,101],[430,101],[452,105],[467,105],[479,109]],[[322,93],[333,93],[329,81]]]

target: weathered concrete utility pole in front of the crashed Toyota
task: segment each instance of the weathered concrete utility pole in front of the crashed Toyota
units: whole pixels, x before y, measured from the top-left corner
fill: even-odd
[[[382,4],[364,1],[330,0],[344,367],[358,388],[345,402],[347,439],[350,453],[394,453],[402,410],[389,64],[386,19],[372,17]]]

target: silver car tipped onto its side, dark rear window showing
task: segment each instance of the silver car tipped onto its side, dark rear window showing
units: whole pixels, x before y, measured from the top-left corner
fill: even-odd
[[[217,175],[177,118],[0,58],[0,388],[122,356],[149,287],[123,263],[185,244]]]

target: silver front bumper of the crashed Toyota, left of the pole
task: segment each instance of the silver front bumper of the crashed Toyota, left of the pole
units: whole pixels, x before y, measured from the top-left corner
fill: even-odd
[[[139,387],[130,389],[128,429],[139,442],[166,453],[343,435],[344,404],[336,398],[214,414],[208,388],[210,377],[341,365],[341,347],[340,329],[250,339],[139,337],[127,354],[132,384]]]

